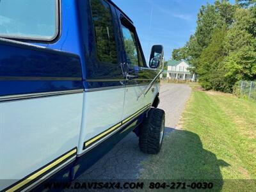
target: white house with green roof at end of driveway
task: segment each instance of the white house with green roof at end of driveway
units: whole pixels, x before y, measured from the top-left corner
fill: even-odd
[[[167,79],[178,79],[184,81],[196,81],[196,74],[189,71],[191,65],[185,60],[170,60],[167,63],[168,68],[166,72]]]

